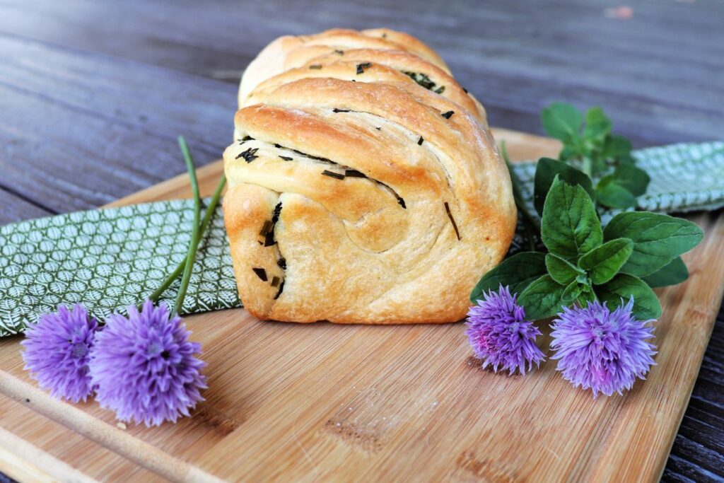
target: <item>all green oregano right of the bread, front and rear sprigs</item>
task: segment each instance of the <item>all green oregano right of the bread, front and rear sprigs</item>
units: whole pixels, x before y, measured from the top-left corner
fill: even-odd
[[[631,143],[611,134],[600,108],[583,114],[568,104],[544,109],[547,132],[563,141],[559,159],[542,158],[536,166],[534,206],[539,235],[547,253],[518,253],[490,270],[471,293],[471,301],[508,287],[529,319],[546,319],[564,307],[606,303],[614,310],[633,298],[632,314],[657,319],[661,306],[654,287],[675,285],[689,272],[681,254],[703,238],[686,219],[648,211],[624,211],[604,227],[601,206],[631,208],[645,193],[649,176],[634,166]],[[513,178],[513,191],[520,193]],[[529,222],[522,199],[516,204]]]

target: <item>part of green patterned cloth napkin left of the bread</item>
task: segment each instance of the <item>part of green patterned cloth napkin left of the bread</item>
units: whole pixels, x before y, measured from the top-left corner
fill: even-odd
[[[208,202],[208,200],[206,200]],[[0,337],[59,303],[103,320],[153,293],[186,257],[193,201],[79,211],[0,228]],[[164,293],[173,305],[180,280]],[[240,307],[221,208],[199,245],[182,314]]]

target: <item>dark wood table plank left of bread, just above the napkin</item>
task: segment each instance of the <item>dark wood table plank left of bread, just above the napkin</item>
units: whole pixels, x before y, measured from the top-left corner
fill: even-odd
[[[0,187],[47,211],[93,208],[183,172],[179,134],[199,165],[231,139],[231,85],[8,35],[0,51]]]

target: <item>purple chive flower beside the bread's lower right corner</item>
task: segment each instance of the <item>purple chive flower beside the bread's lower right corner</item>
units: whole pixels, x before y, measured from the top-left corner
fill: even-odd
[[[526,373],[533,364],[543,361],[542,351],[536,346],[540,331],[526,320],[526,311],[515,304],[516,295],[510,295],[508,287],[490,290],[483,301],[468,311],[466,335],[473,346],[475,356],[483,359],[483,367],[492,366],[497,372],[499,366]]]

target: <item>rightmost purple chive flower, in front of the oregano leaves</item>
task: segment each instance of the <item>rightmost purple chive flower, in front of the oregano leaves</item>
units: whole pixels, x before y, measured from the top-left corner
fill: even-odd
[[[626,305],[610,311],[599,301],[586,308],[563,308],[553,320],[551,348],[558,359],[557,369],[575,387],[591,389],[610,396],[631,389],[636,377],[645,379],[656,364],[656,347],[647,340],[654,337],[649,326],[631,315],[633,297]]]

